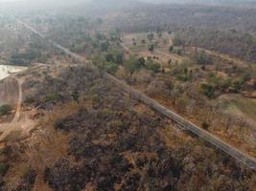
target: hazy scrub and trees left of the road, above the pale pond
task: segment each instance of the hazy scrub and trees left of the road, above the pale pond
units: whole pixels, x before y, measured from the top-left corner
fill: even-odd
[[[8,21],[8,22],[7,22]],[[3,64],[31,66],[34,63],[47,63],[56,53],[35,35],[28,35],[21,26],[9,17],[0,18],[0,60]]]

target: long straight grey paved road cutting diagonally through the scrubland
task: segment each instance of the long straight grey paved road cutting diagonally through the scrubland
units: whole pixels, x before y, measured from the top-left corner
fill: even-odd
[[[23,23],[22,21],[19,21],[19,23],[23,24],[30,32],[34,32],[35,34],[39,35],[39,37],[44,38],[39,32],[36,32],[35,29],[28,26],[27,24]],[[78,59],[79,61],[82,61],[81,55],[78,55],[77,53],[72,53],[68,49],[58,45],[57,43],[50,41],[56,48],[58,48],[61,51],[64,51],[64,53]],[[129,50],[122,45],[123,48],[129,52]],[[202,130],[197,125],[193,124],[192,122],[186,120],[183,117],[178,116],[175,112],[169,110],[168,108],[162,106],[155,100],[151,99],[149,96],[146,96],[145,94],[138,92],[137,90],[134,90],[133,88],[129,87],[125,82],[117,79],[115,76],[111,74],[105,74],[105,77],[109,80],[111,80],[114,84],[121,87],[124,91],[128,92],[135,98],[139,99],[140,101],[144,102],[146,105],[150,106],[154,110],[158,111],[162,115],[171,118],[176,123],[184,127],[185,129],[193,132],[194,134],[198,135],[198,137],[203,138],[205,141],[208,141],[209,143],[213,144],[217,148],[221,149],[224,153],[230,155],[232,158],[237,159],[238,161],[244,163],[247,167],[256,170],[256,159],[246,155],[243,151],[238,150],[234,146],[228,144],[227,142],[224,142],[220,138],[215,137],[211,133]]]

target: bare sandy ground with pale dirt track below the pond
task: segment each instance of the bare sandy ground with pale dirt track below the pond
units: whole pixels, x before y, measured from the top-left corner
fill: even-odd
[[[40,67],[42,65],[11,75],[2,82],[0,98],[3,103],[12,104],[15,107],[15,115],[12,121],[0,123],[0,142],[26,138],[30,136],[31,131],[36,127],[36,120],[31,118],[35,110],[25,111],[22,108],[22,101],[24,99],[22,84],[26,81],[26,74],[39,70]]]

